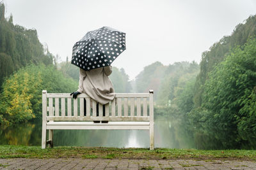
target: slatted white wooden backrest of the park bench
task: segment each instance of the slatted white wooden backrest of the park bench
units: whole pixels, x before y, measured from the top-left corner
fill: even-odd
[[[97,117],[97,102],[86,94],[79,94],[77,99],[73,99],[70,94],[47,93],[46,90],[42,92],[43,122],[92,120],[154,122],[153,90],[149,90],[148,93],[116,93],[115,99],[104,107],[105,116],[103,117],[103,106],[99,104]],[[86,116],[84,116],[84,108],[86,108]]]

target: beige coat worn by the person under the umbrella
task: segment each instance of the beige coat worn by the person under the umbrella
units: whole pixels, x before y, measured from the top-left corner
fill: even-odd
[[[109,103],[116,94],[113,84],[109,79],[112,67],[99,67],[90,71],[79,71],[79,88],[77,92],[85,93],[100,104]]]

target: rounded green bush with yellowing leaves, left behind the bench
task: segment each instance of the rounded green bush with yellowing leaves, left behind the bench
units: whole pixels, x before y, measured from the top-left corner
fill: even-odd
[[[19,69],[3,83],[0,123],[17,124],[42,115],[42,90],[72,92],[77,82],[65,78],[54,66],[30,65]]]

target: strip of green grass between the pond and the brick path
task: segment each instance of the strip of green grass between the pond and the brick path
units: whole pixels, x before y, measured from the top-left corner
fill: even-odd
[[[256,150],[196,150],[173,148],[106,148],[58,146],[0,146],[0,158],[84,158],[84,159],[196,159],[256,160]]]

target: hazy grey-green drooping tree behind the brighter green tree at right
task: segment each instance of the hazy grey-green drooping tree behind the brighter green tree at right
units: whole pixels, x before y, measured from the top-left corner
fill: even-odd
[[[195,85],[195,107],[202,104],[202,94],[204,93],[204,83],[208,79],[208,73],[214,69],[226,55],[230,54],[230,50],[238,46],[243,46],[247,39],[256,37],[256,15],[252,15],[246,19],[244,24],[238,24],[231,36],[223,36],[220,41],[214,43],[209,51],[202,53],[200,62],[200,73],[196,78]]]

